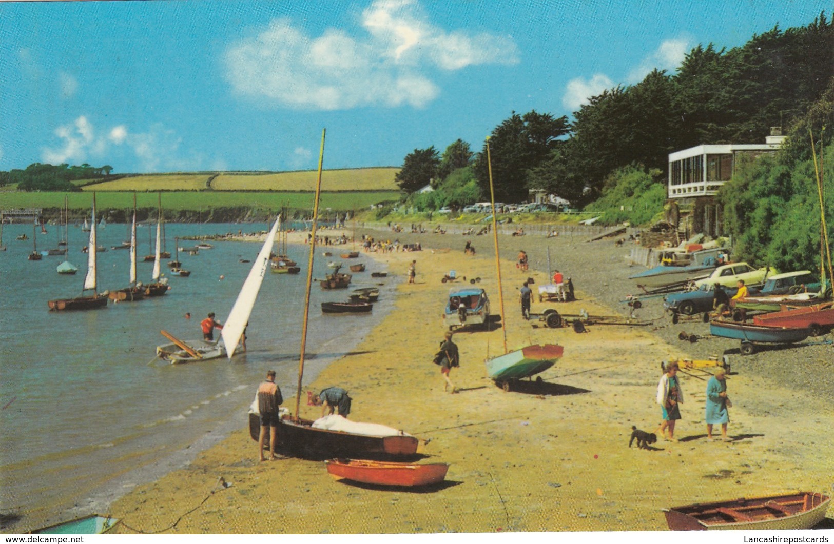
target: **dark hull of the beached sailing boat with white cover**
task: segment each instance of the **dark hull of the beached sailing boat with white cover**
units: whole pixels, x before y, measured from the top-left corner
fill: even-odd
[[[311,427],[305,419],[281,420],[276,449],[304,459],[332,459],[333,457],[361,457],[389,460],[413,457],[419,441],[415,437],[369,437],[350,432],[329,431]],[[268,431],[269,432],[269,431]],[[259,440],[260,417],[249,413],[249,436]],[[269,437],[268,437],[269,440]]]

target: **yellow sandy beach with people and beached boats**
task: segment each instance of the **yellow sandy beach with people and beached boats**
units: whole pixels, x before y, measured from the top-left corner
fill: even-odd
[[[125,525],[120,531],[661,531],[666,530],[662,507],[793,489],[831,492],[830,397],[766,373],[748,373],[741,357],[733,360],[727,382],[734,405],[729,430],[734,442],[706,442],[709,376],[693,372],[681,377],[685,402],[676,428],[680,442],[661,439],[648,450],[628,447],[631,426],[654,432],[661,421],[655,402],[661,361],[703,358],[701,352],[686,352],[691,348],[686,343],[666,342],[656,327],[588,327],[577,334],[570,327],[533,327],[523,320],[517,289],[526,277],[533,277],[536,285],[546,283],[545,266],[537,254],[530,271],[518,271],[517,248],[512,248],[531,252],[541,246],[540,239],[502,239],[505,330],[455,333],[461,366],[451,378],[461,391],[444,392],[439,367],[431,359],[446,330],[440,318],[445,297],[460,282],[443,283],[440,278],[450,270],[480,277],[479,287],[489,293],[497,314],[495,258],[487,237],[475,241],[476,257],[464,256],[465,239],[460,236],[414,239],[424,251],[374,257],[388,262],[389,271],[397,274],[404,274],[416,259],[416,283],[402,282],[389,317],[348,357],[334,362],[315,382],[305,383],[304,391],[339,385],[354,398],[354,421],[383,423],[429,440],[420,447],[425,461],[450,463],[444,486],[423,492],[379,490],[335,481],[322,462],[259,462],[247,414],[230,414],[239,420],[239,431],[199,454],[189,467],[135,487],[113,504],[109,513]],[[410,240],[399,236],[399,241]],[[554,244],[554,261],[570,269],[576,252],[570,240],[547,243]],[[316,251],[319,258],[325,249]],[[622,250],[614,250],[610,241],[586,244],[580,251],[599,256],[595,273],[623,267]],[[339,247],[333,252],[338,255]],[[533,311],[623,312],[623,307],[595,300],[581,278],[576,273],[573,277],[576,302],[536,300]],[[590,275],[585,284],[593,284]],[[486,377],[484,365],[485,358],[503,352],[504,333],[510,350],[559,343],[565,356],[540,375],[540,386],[530,383],[521,391],[504,392]],[[253,393],[257,385],[252,384]],[[284,406],[294,407],[294,393],[284,391]],[[320,408],[304,405],[302,417],[320,415]],[[220,478],[230,486],[219,486]],[[834,527],[834,513],[824,523]]]

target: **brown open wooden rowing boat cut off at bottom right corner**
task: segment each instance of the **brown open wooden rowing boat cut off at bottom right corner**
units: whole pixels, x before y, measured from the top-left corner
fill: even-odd
[[[664,508],[672,531],[810,529],[826,516],[831,497],[794,492]]]

